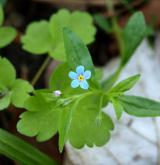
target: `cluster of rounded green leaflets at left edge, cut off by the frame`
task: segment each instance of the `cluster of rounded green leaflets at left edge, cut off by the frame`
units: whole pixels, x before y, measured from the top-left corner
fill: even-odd
[[[0,57],[0,75],[0,110],[10,103],[22,108],[33,87],[25,80],[16,79],[15,69],[6,58]]]

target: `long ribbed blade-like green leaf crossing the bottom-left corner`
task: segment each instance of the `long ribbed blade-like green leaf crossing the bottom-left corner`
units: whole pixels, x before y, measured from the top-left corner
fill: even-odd
[[[25,165],[56,165],[56,161],[20,138],[0,129],[0,153]]]

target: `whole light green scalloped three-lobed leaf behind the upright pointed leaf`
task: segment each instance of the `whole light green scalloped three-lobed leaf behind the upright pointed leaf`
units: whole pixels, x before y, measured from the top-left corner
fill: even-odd
[[[85,44],[89,44],[94,40],[96,32],[92,21],[86,12],[59,10],[49,21],[33,22],[28,26],[22,37],[23,48],[33,54],[48,53],[57,60],[65,61],[63,28],[69,27]]]

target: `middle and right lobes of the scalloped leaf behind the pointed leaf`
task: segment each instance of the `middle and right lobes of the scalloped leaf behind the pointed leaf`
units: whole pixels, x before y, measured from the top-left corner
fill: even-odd
[[[61,9],[56,14],[53,14],[49,21],[49,29],[54,41],[54,48],[50,51],[50,55],[60,61],[66,60],[63,43],[64,27],[73,30],[85,44],[93,42],[96,33],[93,19],[86,12],[74,11],[70,13],[66,9]]]

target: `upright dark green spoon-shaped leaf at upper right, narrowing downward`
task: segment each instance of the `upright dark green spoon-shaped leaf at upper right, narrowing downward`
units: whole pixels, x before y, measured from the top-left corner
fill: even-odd
[[[103,19],[103,21],[105,20]],[[99,25],[99,22],[97,23]],[[147,26],[141,12],[136,12],[131,16],[124,30],[118,26],[115,18],[113,18],[112,28],[114,29],[113,33],[117,36],[119,43],[121,62],[117,70],[102,82],[102,87],[105,90],[110,89],[114,85],[122,69],[129,62],[138,45],[144,37],[147,36]]]

